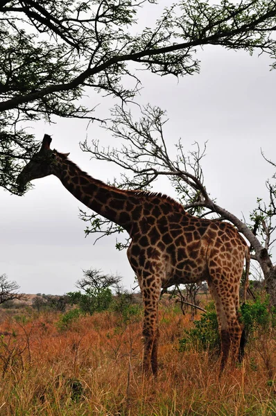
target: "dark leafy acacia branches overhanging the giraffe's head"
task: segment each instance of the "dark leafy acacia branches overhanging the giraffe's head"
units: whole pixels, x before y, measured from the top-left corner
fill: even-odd
[[[32,126],[53,116],[96,120],[96,105],[85,107],[83,95],[133,99],[140,87],[137,67],[160,75],[198,73],[196,50],[208,44],[275,58],[275,0],[241,0],[236,5],[228,0],[212,5],[179,0],[164,8],[152,28],[144,28],[139,13],[153,12],[153,3],[0,2],[1,187],[17,193],[20,162],[37,151],[27,121]]]

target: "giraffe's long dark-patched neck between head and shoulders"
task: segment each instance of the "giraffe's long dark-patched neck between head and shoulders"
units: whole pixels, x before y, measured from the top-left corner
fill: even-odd
[[[60,157],[54,175],[80,202],[130,232],[133,224],[132,211],[136,210],[137,216],[137,209],[141,209],[135,192],[123,191],[96,180],[67,158]]]

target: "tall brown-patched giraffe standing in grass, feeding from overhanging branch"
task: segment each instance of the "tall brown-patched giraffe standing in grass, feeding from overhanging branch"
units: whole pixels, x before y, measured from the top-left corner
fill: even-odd
[[[44,135],[40,151],[17,178],[27,182],[55,175],[72,195],[101,216],[126,229],[131,237],[127,255],[144,302],[143,370],[157,373],[158,303],[162,288],[207,281],[221,334],[221,371],[231,355],[239,356],[243,327],[239,322],[239,284],[249,249],[230,223],[189,215],[180,203],[162,193],[122,190],[94,179],[67,157],[51,150]]]

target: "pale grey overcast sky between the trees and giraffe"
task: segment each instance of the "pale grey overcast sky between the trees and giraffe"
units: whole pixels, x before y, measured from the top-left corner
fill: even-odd
[[[257,197],[266,198],[265,181],[273,168],[261,157],[264,153],[276,161],[276,72],[270,71],[269,58],[250,57],[244,52],[207,47],[199,53],[199,75],[177,80],[140,72],[144,89],[139,103],[159,105],[167,110],[166,140],[171,146],[182,137],[187,150],[191,144],[207,144],[203,161],[207,191],[218,205],[242,218],[248,218]],[[101,115],[108,115],[113,102],[91,92],[86,98],[91,106],[101,104]],[[47,133],[52,147],[90,175],[112,180],[112,165],[89,160],[78,143],[97,137],[106,139],[94,123],[57,120],[53,125],[36,123],[37,138]],[[104,139],[105,137],[105,139]],[[110,137],[112,145],[112,137]],[[25,293],[62,294],[75,290],[83,269],[100,268],[105,273],[118,273],[130,289],[134,273],[126,252],[118,252],[115,236],[94,245],[93,235],[85,239],[85,223],[78,218],[84,206],[62,187],[56,177],[33,182],[35,189],[24,197],[10,196],[0,189],[0,275],[16,280]],[[169,185],[155,189],[173,195]]]

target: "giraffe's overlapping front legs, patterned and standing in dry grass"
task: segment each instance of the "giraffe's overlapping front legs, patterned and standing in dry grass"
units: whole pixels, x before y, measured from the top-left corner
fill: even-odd
[[[142,295],[144,300],[144,322],[143,322],[143,372],[157,374],[157,352],[158,352],[158,303],[160,296],[161,281],[150,275],[143,279]]]

